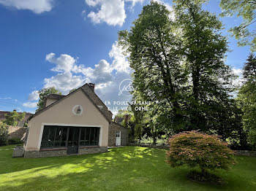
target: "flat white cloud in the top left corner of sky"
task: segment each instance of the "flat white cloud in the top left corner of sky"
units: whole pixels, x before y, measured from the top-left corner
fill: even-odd
[[[36,14],[49,12],[53,8],[53,0],[0,0],[0,4],[16,9],[29,9]]]

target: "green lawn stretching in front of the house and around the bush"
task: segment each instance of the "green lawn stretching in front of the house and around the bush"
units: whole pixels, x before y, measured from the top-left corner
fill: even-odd
[[[225,186],[187,180],[187,167],[165,164],[165,150],[121,147],[94,155],[12,158],[0,147],[0,190],[256,190],[256,157],[237,157],[230,171],[216,174]]]

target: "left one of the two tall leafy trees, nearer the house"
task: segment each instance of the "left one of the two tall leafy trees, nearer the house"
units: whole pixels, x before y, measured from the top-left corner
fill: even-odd
[[[130,31],[118,33],[118,43],[127,49],[134,69],[133,86],[141,100],[157,103],[157,117],[164,126],[183,128],[186,122],[182,90],[186,75],[179,57],[181,44],[162,4],[151,1],[143,7]],[[155,108],[154,104],[151,104]]]

